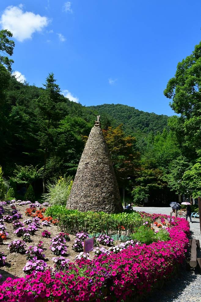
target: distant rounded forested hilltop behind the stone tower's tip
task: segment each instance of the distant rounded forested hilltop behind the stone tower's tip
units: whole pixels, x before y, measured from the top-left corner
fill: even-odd
[[[103,104],[89,106],[88,108],[97,111],[98,114],[108,114],[116,124],[123,124],[127,133],[133,135],[163,132],[167,128],[167,115],[144,112],[134,107],[122,104]]]

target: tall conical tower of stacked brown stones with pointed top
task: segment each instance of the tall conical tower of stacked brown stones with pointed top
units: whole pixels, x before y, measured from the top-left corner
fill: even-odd
[[[99,119],[86,142],[66,207],[118,213],[122,211],[119,187]]]

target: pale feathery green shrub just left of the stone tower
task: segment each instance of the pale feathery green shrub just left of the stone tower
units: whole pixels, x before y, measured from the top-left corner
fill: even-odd
[[[53,184],[47,183],[47,191],[42,195],[43,201],[49,202],[51,205],[59,204],[66,205],[68,196],[72,188],[72,177],[60,177],[59,180],[54,181]]]

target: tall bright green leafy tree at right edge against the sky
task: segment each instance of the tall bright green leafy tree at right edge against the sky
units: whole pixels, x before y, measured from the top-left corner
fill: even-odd
[[[178,63],[164,95],[172,100],[171,108],[181,114],[181,117],[174,117],[171,128],[182,145],[184,155],[196,159],[201,140],[201,42],[191,55]]]

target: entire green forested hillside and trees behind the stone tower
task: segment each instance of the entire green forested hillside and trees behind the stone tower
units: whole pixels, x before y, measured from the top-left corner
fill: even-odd
[[[0,49],[11,56],[12,33],[3,30],[0,37]],[[5,180],[15,194],[26,185],[40,196],[47,181],[74,176],[97,115],[120,192],[125,188],[130,200],[161,204],[177,200],[175,193],[200,196],[200,54],[201,43],[178,64],[164,91],[180,117],[121,104],[82,106],[61,94],[53,73],[43,88],[19,83],[13,61],[0,56],[0,199]]]

